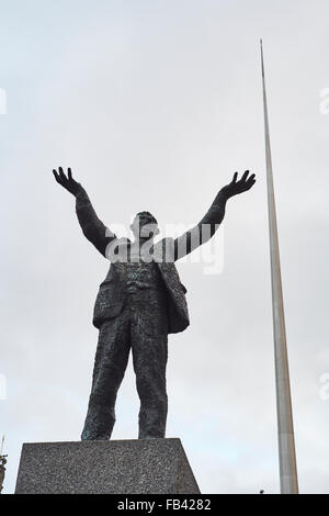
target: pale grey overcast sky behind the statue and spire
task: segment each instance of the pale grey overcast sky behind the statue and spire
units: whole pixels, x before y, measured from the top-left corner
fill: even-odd
[[[0,12],[3,492],[23,442],[79,440],[91,386],[109,262],[58,166],[110,228],[148,210],[163,231],[198,222],[235,170],[257,173],[215,237],[222,272],[178,263],[191,326],[169,337],[167,437],[202,493],[279,492],[262,37],[299,487],[329,493],[328,1],[0,0]],[[129,363],[113,438],[136,438],[137,415]]]

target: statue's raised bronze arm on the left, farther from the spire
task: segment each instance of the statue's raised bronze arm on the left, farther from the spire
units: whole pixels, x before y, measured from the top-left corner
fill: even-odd
[[[61,167],[59,167],[58,172],[57,170],[53,170],[53,173],[56,181],[75,195],[77,216],[83,235],[103,256],[105,256],[106,246],[116,239],[116,236],[100,221],[90,202],[88,193],[82,186],[73,179],[70,168],[67,169],[67,176],[64,173]]]

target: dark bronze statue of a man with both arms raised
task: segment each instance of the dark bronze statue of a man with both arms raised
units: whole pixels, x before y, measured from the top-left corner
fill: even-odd
[[[81,439],[110,439],[115,423],[115,401],[132,349],[140,399],[138,438],[162,438],[166,433],[166,366],[168,334],[189,326],[186,289],[174,261],[207,242],[225,215],[229,198],[256,182],[247,170],[217,193],[202,221],[178,238],[155,243],[159,233],[149,212],[140,212],[131,226],[134,242],[118,238],[99,220],[86,190],[68,169],[54,170],[56,181],[76,198],[84,236],[111,261],[94,305],[99,328],[92,388]]]

